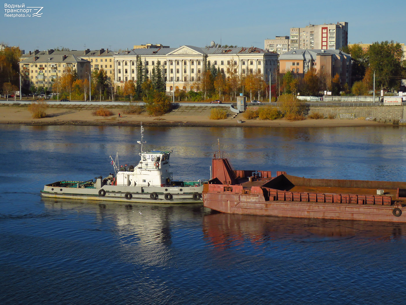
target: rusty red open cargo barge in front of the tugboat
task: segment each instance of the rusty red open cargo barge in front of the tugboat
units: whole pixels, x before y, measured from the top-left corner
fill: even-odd
[[[205,207],[233,214],[406,222],[406,183],[309,179],[234,170],[225,153],[212,159]]]

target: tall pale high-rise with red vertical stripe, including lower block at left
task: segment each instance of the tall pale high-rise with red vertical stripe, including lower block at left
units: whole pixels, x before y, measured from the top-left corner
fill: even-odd
[[[285,37],[285,39],[280,39]],[[289,39],[286,39],[289,38]],[[277,40],[287,41],[287,50],[278,49]],[[276,43],[274,43],[276,42]],[[309,24],[304,28],[290,28],[290,37],[277,36],[275,39],[265,40],[265,49],[284,54],[290,50],[338,50],[348,46],[348,22],[337,24]]]

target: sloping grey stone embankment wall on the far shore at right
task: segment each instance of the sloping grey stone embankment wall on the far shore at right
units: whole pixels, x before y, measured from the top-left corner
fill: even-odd
[[[320,112],[324,116],[334,115],[342,119],[376,120],[378,122],[406,122],[406,106],[374,106],[374,107],[310,107],[309,113]]]

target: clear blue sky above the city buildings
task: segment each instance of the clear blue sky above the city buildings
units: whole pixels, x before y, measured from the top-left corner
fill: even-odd
[[[350,43],[406,43],[398,12],[404,1],[9,1],[43,7],[41,17],[0,15],[0,42],[29,51],[58,46],[131,49],[136,44],[204,47],[216,43],[264,48],[264,40],[289,35],[291,27],[348,22]],[[311,4],[311,7],[309,6]],[[4,9],[4,4],[2,5]],[[402,22],[403,20],[403,22]]]

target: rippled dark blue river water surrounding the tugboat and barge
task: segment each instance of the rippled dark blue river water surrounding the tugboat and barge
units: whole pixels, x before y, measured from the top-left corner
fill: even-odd
[[[201,204],[47,199],[138,162],[139,128],[0,126],[1,304],[405,304],[406,225],[240,216]],[[406,180],[405,129],[146,127],[174,178],[236,169]],[[121,161],[122,160],[122,161]]]

